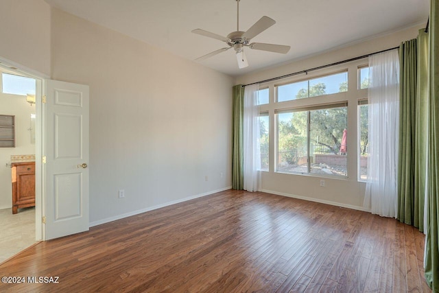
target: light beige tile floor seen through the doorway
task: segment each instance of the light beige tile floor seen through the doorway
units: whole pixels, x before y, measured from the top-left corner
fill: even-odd
[[[35,241],[35,207],[0,209],[0,263],[31,246]]]

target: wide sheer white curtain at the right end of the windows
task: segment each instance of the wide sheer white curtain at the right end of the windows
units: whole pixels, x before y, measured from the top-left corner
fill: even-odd
[[[369,154],[364,206],[383,217],[398,209],[399,54],[369,57]]]

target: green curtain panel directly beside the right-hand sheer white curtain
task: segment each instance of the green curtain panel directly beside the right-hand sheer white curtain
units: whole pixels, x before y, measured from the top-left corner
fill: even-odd
[[[414,224],[414,163],[417,89],[417,40],[399,46],[399,156],[398,156],[398,219]],[[418,221],[416,221],[418,222]],[[415,225],[418,227],[417,225]]]

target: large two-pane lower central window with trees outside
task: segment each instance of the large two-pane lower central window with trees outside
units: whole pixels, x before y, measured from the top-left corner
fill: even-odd
[[[277,171],[347,175],[346,103],[277,111]]]

